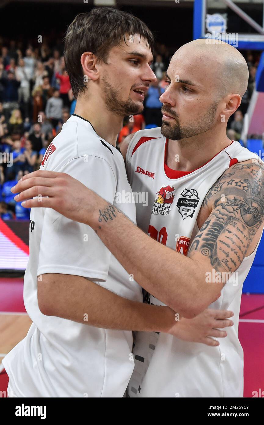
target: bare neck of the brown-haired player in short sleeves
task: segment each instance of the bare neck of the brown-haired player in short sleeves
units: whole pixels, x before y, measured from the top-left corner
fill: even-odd
[[[97,96],[96,100],[92,101],[87,96],[78,96],[74,113],[87,119],[98,136],[112,146],[116,145],[118,133],[122,129],[123,117],[108,111],[104,99]]]

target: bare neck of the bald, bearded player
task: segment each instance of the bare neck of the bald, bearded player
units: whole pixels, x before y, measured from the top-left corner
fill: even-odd
[[[220,131],[214,128],[179,141],[169,139],[165,162],[173,170],[193,171],[202,167],[229,144],[231,140],[226,136],[226,128]]]

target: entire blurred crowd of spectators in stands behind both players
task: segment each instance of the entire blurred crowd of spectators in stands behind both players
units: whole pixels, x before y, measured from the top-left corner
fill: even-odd
[[[63,45],[39,47],[0,38],[0,217],[28,219],[29,210],[14,201],[10,189],[26,173],[39,169],[48,145],[74,113],[70,80],[65,71]],[[159,98],[168,83],[165,75],[174,51],[157,43],[152,69],[157,77],[146,95],[142,114],[124,119],[118,147],[143,128],[161,125]],[[250,80],[239,110],[229,123],[230,138],[239,140],[244,113],[255,84],[259,54],[247,51]]]

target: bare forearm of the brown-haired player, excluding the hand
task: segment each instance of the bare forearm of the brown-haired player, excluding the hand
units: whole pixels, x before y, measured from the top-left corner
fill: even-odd
[[[47,316],[104,329],[169,332],[177,326],[169,307],[128,300],[82,276],[41,275],[38,304]]]

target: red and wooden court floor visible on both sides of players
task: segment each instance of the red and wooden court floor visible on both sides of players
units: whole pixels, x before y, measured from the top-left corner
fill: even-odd
[[[8,383],[2,359],[31,323],[23,303],[23,279],[0,278],[0,391],[6,391]],[[244,349],[244,397],[253,397],[253,391],[264,397],[264,294],[242,295],[239,340]]]

